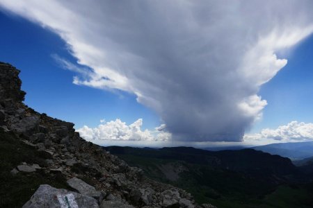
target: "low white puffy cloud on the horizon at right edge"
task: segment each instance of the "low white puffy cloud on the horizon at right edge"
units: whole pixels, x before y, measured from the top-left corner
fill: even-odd
[[[266,128],[258,134],[248,134],[245,141],[313,141],[313,123],[291,121],[287,125],[280,125],[277,129]]]

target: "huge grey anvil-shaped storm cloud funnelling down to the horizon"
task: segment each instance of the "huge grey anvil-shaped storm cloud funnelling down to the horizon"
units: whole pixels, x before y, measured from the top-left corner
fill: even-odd
[[[39,1],[0,7],[60,35],[74,83],[135,94],[175,141],[241,141],[276,53],[313,31],[313,1]]]

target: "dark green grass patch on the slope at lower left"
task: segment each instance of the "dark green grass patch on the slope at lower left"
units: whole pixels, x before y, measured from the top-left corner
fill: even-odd
[[[42,171],[11,174],[22,162],[46,166],[45,158],[35,148],[24,144],[16,135],[0,130],[0,207],[22,207],[40,184],[69,189],[62,175],[51,176]]]

